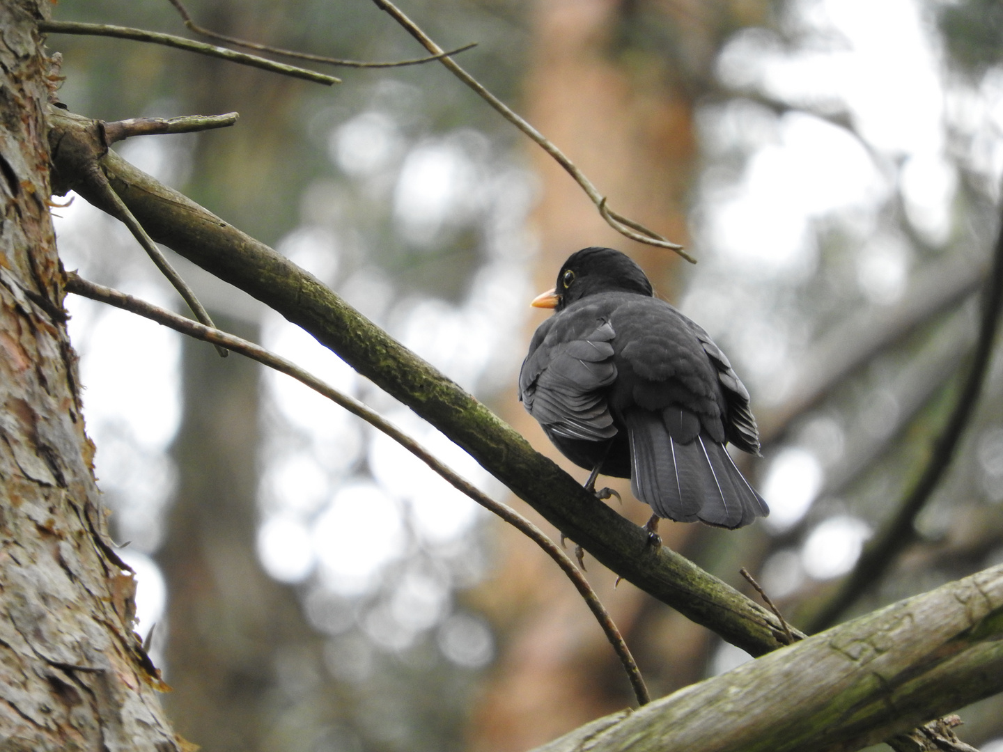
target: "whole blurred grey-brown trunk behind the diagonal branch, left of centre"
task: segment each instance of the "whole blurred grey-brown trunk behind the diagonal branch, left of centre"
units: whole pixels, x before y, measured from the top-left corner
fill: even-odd
[[[200,12],[223,33],[268,39],[282,11],[223,0]],[[296,195],[286,190],[295,183],[286,158],[294,139],[284,131],[291,120],[275,112],[291,108],[299,84],[196,55],[184,65],[194,111],[241,112],[241,126],[224,138],[200,136],[189,195],[274,243],[296,219],[287,216]],[[259,339],[246,322],[214,318]],[[259,368],[199,342],[186,342],[184,357],[185,412],[173,449],[179,490],[157,554],[170,592],[172,717],[206,752],[312,752],[350,705],[324,668],[323,637],[296,590],[258,561]]]

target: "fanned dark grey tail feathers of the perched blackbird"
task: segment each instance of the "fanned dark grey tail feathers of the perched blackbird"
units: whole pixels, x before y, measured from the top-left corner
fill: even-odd
[[[680,430],[693,421],[669,421],[664,412],[633,409],[623,416],[630,436],[631,490],[637,498],[660,517],[699,519],[719,527],[741,527],[769,513],[723,444],[698,423],[695,431]]]

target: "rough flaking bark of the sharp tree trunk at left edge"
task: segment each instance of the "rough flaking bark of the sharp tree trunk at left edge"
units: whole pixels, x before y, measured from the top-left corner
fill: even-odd
[[[0,1],[0,749],[184,750],[105,532],[49,217],[48,0]]]

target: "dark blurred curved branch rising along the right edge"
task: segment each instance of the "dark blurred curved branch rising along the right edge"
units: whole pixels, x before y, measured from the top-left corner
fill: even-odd
[[[847,609],[881,579],[900,551],[915,540],[916,517],[950,466],[955,449],[982,391],[982,384],[989,370],[1001,308],[1003,308],[1003,225],[996,239],[993,268],[986,280],[982,319],[979,323],[979,340],[954,412],[943,434],[934,442],[933,454],[923,474],[906,495],[895,517],[868,544],[854,571],[844,581],[832,599],[814,617],[808,633],[832,626]]]

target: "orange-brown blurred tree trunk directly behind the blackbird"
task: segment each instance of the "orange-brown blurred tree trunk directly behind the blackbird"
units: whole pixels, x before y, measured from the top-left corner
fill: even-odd
[[[613,59],[611,41],[620,11],[612,0],[538,3],[535,57],[524,108],[614,209],[685,245],[688,192],[697,159],[694,102],[678,87],[632,77]],[[541,243],[536,267],[540,291],[553,287],[558,269],[572,252],[599,245],[630,254],[644,267],[657,294],[674,296],[678,257],[610,229],[560,166],[540,149],[533,150],[533,158],[543,182],[534,217]],[[543,318],[535,317],[532,326]],[[534,446],[584,481],[587,473],[560,457],[515,393],[511,404],[506,418]],[[650,509],[634,500],[629,481],[609,484],[624,497],[622,513],[643,523]],[[675,548],[684,545],[693,529],[668,521],[661,526],[665,543]],[[474,718],[471,740],[473,749],[493,752],[529,749],[635,704],[612,649],[564,576],[518,533],[505,529],[500,534],[500,572],[480,598],[500,627],[505,649]],[[614,576],[588,555],[586,566],[645,671],[653,696],[699,678],[706,652],[704,631],[628,583],[614,589]]]

